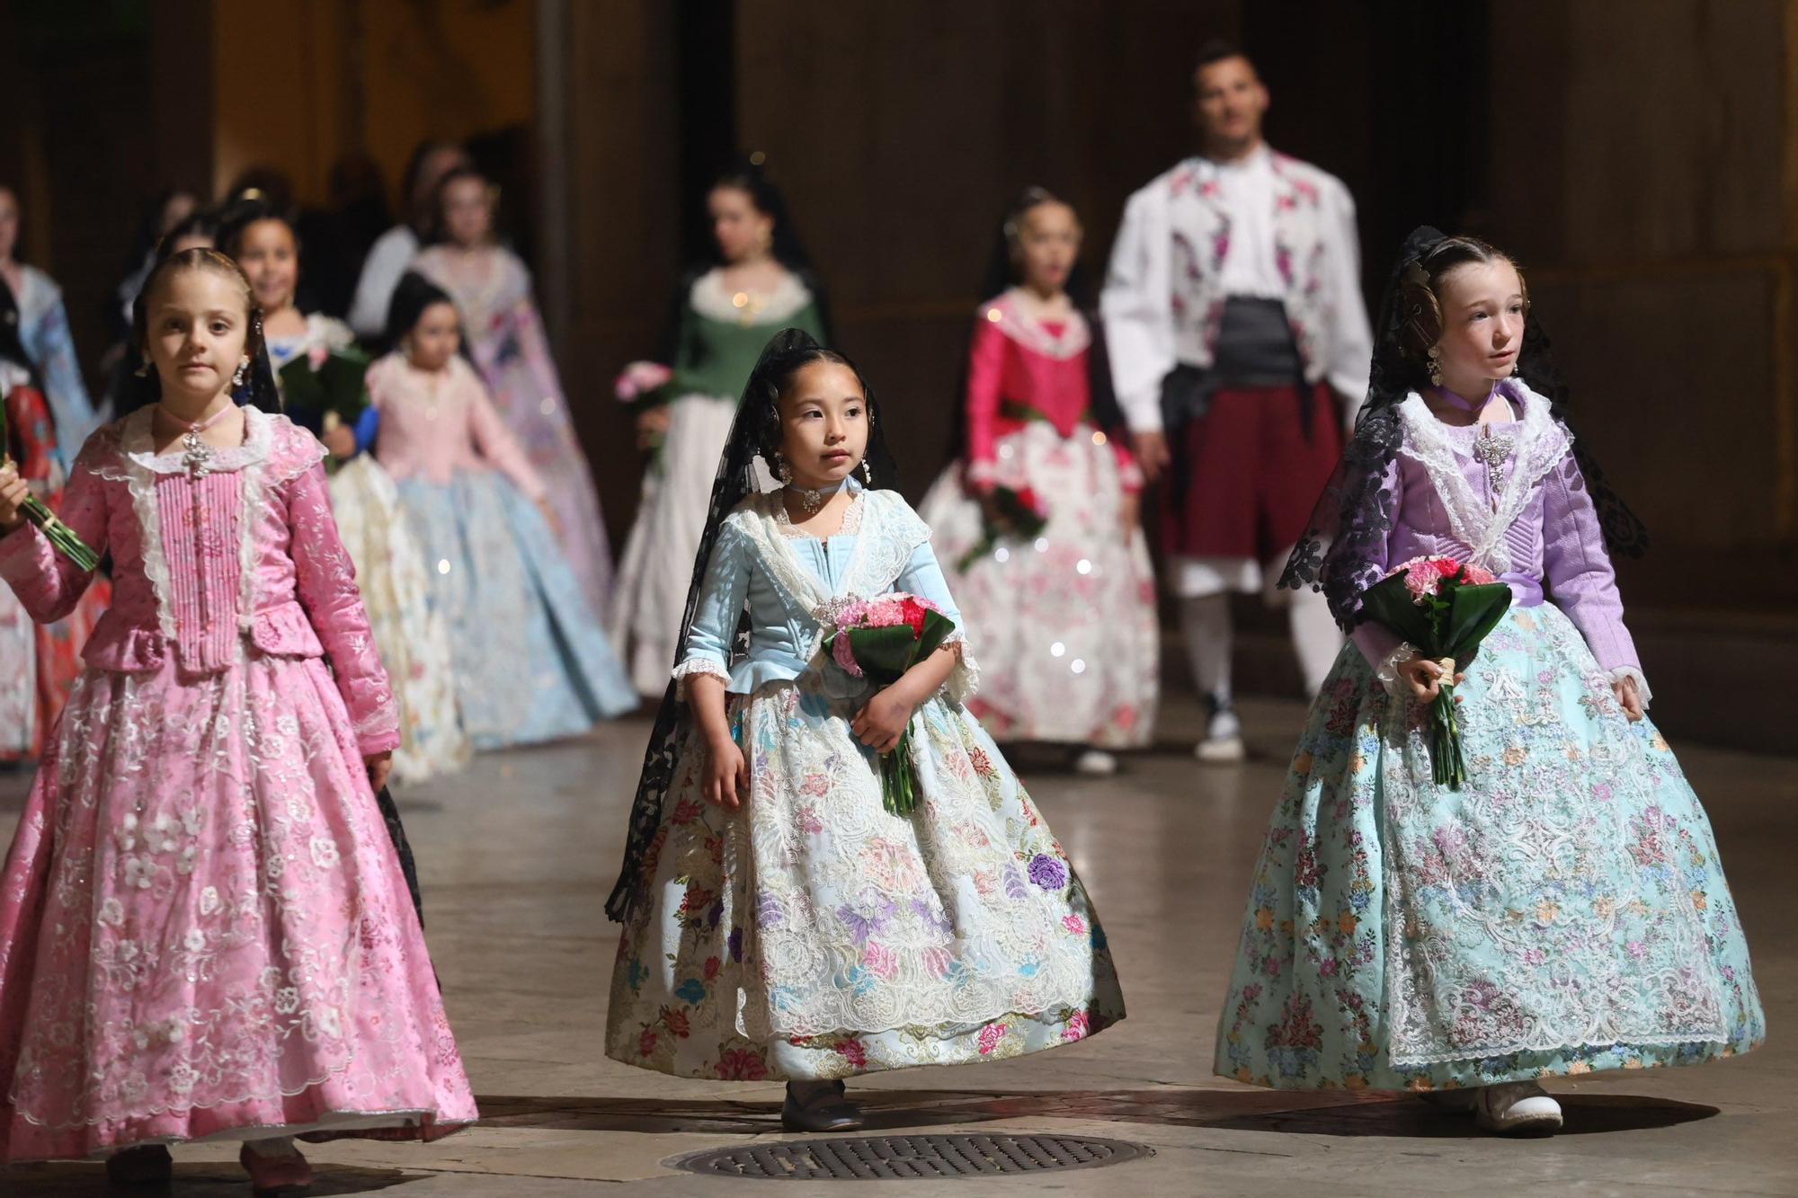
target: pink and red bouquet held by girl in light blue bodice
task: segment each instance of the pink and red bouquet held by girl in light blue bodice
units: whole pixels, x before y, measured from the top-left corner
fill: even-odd
[[[955,621],[928,599],[890,594],[877,599],[843,599],[822,613],[831,635],[825,648],[852,678],[867,678],[876,687],[890,687],[904,671],[942,648],[955,631]],[[917,809],[917,777],[912,770],[912,729],[899,734],[899,745],[881,754],[881,799],[894,815]]]

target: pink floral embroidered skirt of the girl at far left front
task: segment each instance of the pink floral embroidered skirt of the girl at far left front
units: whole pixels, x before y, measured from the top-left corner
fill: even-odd
[[[88,671],[0,874],[0,1160],[475,1119],[322,660]]]

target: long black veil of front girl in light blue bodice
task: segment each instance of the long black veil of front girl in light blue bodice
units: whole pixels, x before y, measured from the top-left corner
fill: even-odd
[[[780,439],[780,383],[793,371],[807,362],[818,360],[825,353],[818,342],[804,329],[782,329],[762,349],[748,383],[743,387],[743,401],[737,405],[737,419],[730,425],[730,439],[725,453],[717,460],[717,473],[712,477],[712,505],[707,509],[705,532],[699,536],[699,552],[692,559],[692,583],[687,586],[687,608],[680,621],[680,637],[674,642],[674,660],[669,669],[680,664],[687,649],[687,633],[692,631],[694,612],[699,608],[699,586],[705,570],[712,561],[712,549],[725,527],[725,516],[750,495],[759,493],[761,478],[755,459],[773,468],[771,457]],[[832,356],[832,360],[836,360]],[[850,371],[854,363],[845,360]],[[856,371],[859,376],[859,371]],[[863,381],[868,401],[868,450],[863,462],[870,471],[868,486],[892,486],[897,480],[897,468],[892,453],[886,451],[885,417],[874,399],[874,390]],[[858,471],[859,473],[859,471]],[[737,621],[737,635],[732,657],[748,651],[748,612]],[[647,889],[644,865],[649,860],[649,844],[662,824],[662,804],[674,781],[674,766],[681,745],[687,741],[690,727],[687,703],[676,696],[676,685],[669,682],[662,694],[662,709],[656,712],[654,730],[649,734],[649,748],[644,752],[644,770],[636,779],[636,799],[631,802],[631,826],[626,833],[624,863],[619,867],[619,881],[606,899],[606,916],[624,921]]]

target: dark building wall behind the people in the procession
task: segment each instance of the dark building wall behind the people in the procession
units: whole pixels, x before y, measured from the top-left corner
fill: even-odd
[[[1192,148],[1212,36],[1259,61],[1269,139],[1356,192],[1370,300],[1420,221],[1518,254],[1579,432],[1654,532],[1622,563],[1638,624],[1771,604],[1784,630],[1798,0],[22,0],[0,11],[0,180],[92,362],[155,185],[263,160],[322,203],[345,153],[394,180],[419,137],[480,139],[622,534],[638,459],[610,378],[654,349],[732,148],[786,187],[917,495],[998,214],[1027,183],[1063,192],[1100,275],[1124,198]],[[1744,561],[1757,586],[1719,586]]]

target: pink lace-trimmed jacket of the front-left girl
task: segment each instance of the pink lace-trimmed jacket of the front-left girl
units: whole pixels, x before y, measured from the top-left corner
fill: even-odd
[[[185,682],[252,657],[329,655],[360,752],[399,745],[394,693],[331,518],[324,446],[284,416],[245,408],[243,444],[214,450],[194,475],[180,450],[155,451],[153,412],[88,437],[63,495],[63,522],[113,558],[113,603],[83,660],[155,675],[173,658]],[[74,610],[90,583],[31,525],[0,538],[0,577],[43,622]]]

